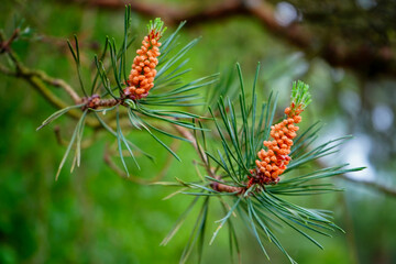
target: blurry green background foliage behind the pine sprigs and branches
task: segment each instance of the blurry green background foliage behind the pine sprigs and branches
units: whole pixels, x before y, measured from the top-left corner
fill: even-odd
[[[219,1],[188,3],[197,7],[211,2]],[[290,13],[292,3],[299,8],[298,1],[271,2],[280,23],[286,23],[288,15],[296,15]],[[311,11],[307,7],[316,7],[310,2],[316,1],[301,1],[301,12]],[[329,1],[322,2],[323,7],[317,7],[318,10],[329,8]],[[334,7],[339,3],[333,2]],[[372,28],[374,22],[360,15],[363,11],[375,9],[377,3],[374,0],[345,2],[354,3],[351,16],[355,15],[358,22],[350,30],[361,36],[364,31],[360,29],[366,24]],[[178,8],[187,2],[174,0],[161,3]],[[340,33],[345,23],[344,16],[330,11],[323,11],[323,15],[330,16],[324,22],[319,20],[317,28],[320,26],[320,30],[315,28],[312,16],[307,15],[310,19],[307,23],[314,24],[314,33],[323,42],[323,35],[342,38],[344,34]],[[123,34],[122,8],[96,8],[68,1],[3,0],[0,28],[6,29],[8,35],[14,16],[24,18],[25,24],[43,36],[37,41],[14,43],[13,48],[22,61],[74,86],[78,80],[65,45],[66,38],[72,38],[75,33],[79,36],[81,48],[86,51],[84,59],[88,64],[94,54],[99,53],[97,47],[102,45],[106,35],[114,36],[120,43]],[[395,52],[395,28],[386,21],[388,18],[378,15],[375,25],[386,28],[389,24],[384,29],[386,35],[378,35],[385,37],[391,51]],[[132,24],[139,36],[145,32],[148,19],[152,18],[133,13]],[[300,20],[305,22],[304,16]],[[366,38],[373,40],[371,45],[375,47],[377,38],[370,38],[371,34],[376,37],[374,31],[367,32]],[[198,36],[202,40],[188,54],[189,66],[194,68],[189,78],[210,75],[240,62],[245,79],[251,82],[256,63],[261,62],[260,89],[280,91],[280,106],[288,99],[292,80],[305,80],[312,88],[314,103],[308,110],[311,122],[320,119],[327,123],[321,141],[349,133],[355,135],[333,160],[350,162],[351,166],[367,166],[366,170],[353,176],[356,180],[373,180],[396,189],[396,76],[371,76],[353,69],[334,68],[320,56],[305,54],[274,36],[249,15],[197,23],[183,30],[180,42],[187,43]],[[359,42],[359,37],[355,41]],[[348,44],[354,43],[350,41]],[[56,124],[36,132],[41,121],[55,109],[26,82],[3,74],[0,74],[0,263],[178,262],[193,228],[194,216],[167,246],[160,246],[160,243],[191,200],[190,197],[176,196],[162,200],[172,189],[136,185],[117,176],[103,163],[103,148],[106,142],[112,142],[111,138],[84,150],[82,166],[69,174],[68,163],[59,180],[55,182],[65,147],[58,145],[54,128],[59,125],[66,138],[72,133],[75,121],[63,117]],[[63,95],[62,91],[58,94]],[[145,140],[144,135],[138,135],[138,139]],[[132,172],[136,177],[154,177],[167,161],[167,154],[156,143],[146,144],[146,148],[157,153],[158,162],[153,167],[142,158],[142,170]],[[183,162],[170,160],[164,180],[197,177],[191,163],[197,160],[194,150],[182,143],[178,152],[184,157]],[[285,230],[280,235],[284,246],[299,263],[396,263],[396,197],[377,191],[370,185],[338,178],[333,180],[346,190],[299,198],[298,201],[333,210],[336,223],[346,233],[337,232],[331,239],[318,238],[324,245],[324,251],[321,251],[297,233]],[[218,209],[215,207],[210,211],[208,234],[216,229],[213,221],[223,216]],[[266,262],[252,234],[243,229],[239,234],[242,238],[243,262]],[[268,245],[268,251],[273,263],[287,262],[273,245]],[[220,232],[211,246],[206,248],[204,260],[204,263],[230,263],[226,230]],[[189,263],[196,263],[194,255]]]

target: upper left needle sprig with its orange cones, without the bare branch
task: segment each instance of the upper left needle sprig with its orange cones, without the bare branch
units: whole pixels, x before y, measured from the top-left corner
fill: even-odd
[[[201,117],[189,112],[186,107],[201,103],[198,101],[198,92],[193,91],[217,81],[217,75],[189,82],[180,79],[189,70],[184,68],[188,62],[188,58],[185,58],[185,56],[198,42],[198,40],[194,40],[187,45],[178,47],[176,43],[177,35],[184,24],[185,22],[180,23],[174,33],[166,37],[163,43],[160,43],[166,26],[164,26],[164,22],[160,18],[150,21],[147,24],[148,33],[142,42],[143,45],[138,50],[138,56],[133,61],[130,76],[125,73],[127,62],[129,61],[127,52],[130,50],[135,37],[131,37],[131,8],[129,6],[125,8],[123,43],[120,47],[117,47],[114,38],[106,38],[103,53],[99,57],[95,56],[97,70],[92,80],[86,80],[81,75],[82,66],[79,59],[80,50],[77,36],[75,36],[75,47],[68,42],[77,65],[78,79],[84,97],[78,105],[55,112],[40,127],[41,129],[50,124],[53,120],[72,109],[81,108],[84,110],[84,118],[77,124],[79,129],[76,129],[75,135],[72,138],[57,176],[73,147],[76,147],[75,161],[77,161],[76,164],[79,166],[80,141],[82,139],[85,117],[91,113],[95,113],[95,118],[98,119],[102,128],[116,136],[119,155],[127,175],[129,175],[129,169],[122,150],[127,148],[138,168],[139,164],[135,160],[135,152],[141,152],[141,150],[128,140],[127,132],[121,130],[122,114],[128,116],[131,128],[147,132],[154,141],[165,147],[177,160],[180,160],[156,134],[161,133],[178,140],[186,139],[157,128],[155,122],[166,122],[186,129],[201,130],[201,128],[196,127],[191,122],[193,119]],[[90,81],[89,95],[85,89],[88,81]],[[168,109],[164,109],[164,107]],[[108,114],[109,118],[97,114],[97,112],[107,113],[112,111],[114,113]],[[116,128],[111,128],[109,123],[116,123]],[[153,158],[145,152],[142,153]]]

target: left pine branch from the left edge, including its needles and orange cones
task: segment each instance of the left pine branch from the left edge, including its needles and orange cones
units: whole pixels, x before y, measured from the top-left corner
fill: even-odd
[[[74,147],[76,148],[74,161],[76,161],[77,166],[79,166],[80,148],[81,143],[84,143],[81,139],[84,136],[84,128],[86,124],[98,129],[106,129],[117,138],[120,158],[127,172],[127,176],[129,173],[123,157],[123,147],[127,147],[138,168],[139,164],[134,158],[135,151],[143,153],[148,158],[153,157],[150,154],[143,152],[131,141],[125,139],[124,134],[122,133],[122,116],[128,116],[127,121],[129,121],[130,125],[138,130],[146,131],[157,143],[165,147],[177,160],[179,160],[177,154],[152,131],[156,131],[178,140],[186,139],[176,136],[168,131],[161,129],[161,127],[154,125],[153,122],[166,122],[170,125],[177,125],[193,130],[197,129],[195,128],[195,124],[190,123],[189,120],[200,118],[199,116],[182,109],[174,109],[174,107],[180,108],[197,106],[195,102],[188,102],[190,100],[197,99],[197,95],[191,95],[189,92],[200,87],[208,86],[217,80],[217,75],[199,78],[187,84],[180,80],[180,76],[188,72],[183,68],[188,61],[183,61],[183,56],[197,43],[198,40],[191,41],[177,51],[175,48],[177,46],[177,34],[184,25],[184,23],[180,23],[177,30],[168,37],[166,37],[163,43],[161,43],[160,40],[165,32],[166,26],[164,26],[164,23],[160,18],[155,19],[154,22],[148,24],[148,33],[142,42],[143,45],[141,46],[141,50],[136,51],[138,55],[135,56],[134,63],[132,64],[131,75],[127,76],[127,50],[134,40],[134,37],[129,37],[131,26],[130,12],[130,7],[125,7],[124,40],[121,48],[117,48],[114,40],[110,42],[109,37],[107,37],[102,55],[100,57],[95,56],[97,73],[90,85],[90,95],[88,95],[85,88],[85,80],[82,79],[81,75],[78,38],[75,35],[74,45],[72,45],[70,42],[67,42],[73,58],[76,63],[81,92],[85,95],[82,98],[80,98],[75,89],[72,88],[66,81],[52,78],[43,72],[25,67],[12,52],[10,46],[12,41],[16,37],[12,36],[10,41],[4,42],[6,37],[2,32],[0,32],[0,43],[2,46],[1,51],[4,52],[7,56],[9,56],[15,68],[15,70],[12,72],[7,67],[1,66],[0,70],[13,77],[25,79],[50,102],[61,109],[44,120],[37,130],[50,124],[65,113],[78,119],[77,127],[69,143],[67,144],[67,150],[61,162],[57,176],[59,175],[65,161]],[[162,46],[162,53],[160,53],[160,46]],[[107,51],[110,53],[111,64],[108,67],[105,67],[103,59],[106,58]],[[158,68],[156,68],[157,65]],[[112,84],[108,77],[108,75],[111,73],[113,74],[116,84]],[[98,84],[97,80],[100,82]],[[74,100],[75,105],[67,106],[46,87],[46,84],[63,88]],[[170,89],[164,89],[165,87]],[[158,90],[160,88],[161,90]],[[150,97],[147,97],[148,90],[150,94],[153,94],[150,95]],[[101,92],[101,95],[99,96],[95,92]],[[110,96],[111,98],[108,99]],[[120,111],[120,107],[122,107],[122,111]],[[172,109],[163,109],[162,107],[172,107]],[[78,110],[82,110],[82,114]],[[116,112],[117,114],[109,114],[110,117],[107,116],[106,120],[97,114],[97,112],[106,113],[110,111],[113,113]],[[96,118],[92,117],[91,113],[95,113]],[[116,125],[112,124],[114,121]],[[58,136],[58,139],[61,138]],[[59,140],[59,142],[62,142],[62,140]],[[107,160],[107,162],[110,164],[110,160]],[[74,165],[72,166],[72,170],[73,167]]]

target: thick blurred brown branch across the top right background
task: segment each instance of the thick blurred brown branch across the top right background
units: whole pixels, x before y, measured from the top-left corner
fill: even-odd
[[[282,21],[277,18],[275,7],[271,4],[271,1],[263,0],[224,0],[215,2],[212,4],[206,4],[202,7],[198,3],[183,3],[177,7],[170,7],[169,4],[158,4],[142,1],[122,1],[122,0],[74,0],[79,4],[86,4],[89,7],[98,7],[103,9],[123,9],[125,4],[131,4],[134,12],[141,13],[147,16],[160,16],[168,24],[178,24],[180,21],[188,21],[187,26],[194,26],[201,23],[212,23],[217,20],[231,19],[235,15],[244,15],[249,19],[257,20],[262,23],[266,31],[279,37],[283,41],[302,50],[308,56],[320,56],[326,59],[330,65],[336,67],[348,67],[356,72],[362,76],[389,76],[396,77],[396,55],[394,48],[387,43],[387,41],[372,42],[372,38],[355,37],[348,34],[350,28],[355,28],[352,23],[354,16],[362,13],[367,20],[375,20],[377,15],[382,13],[374,11],[354,12],[350,13],[350,7],[348,4],[341,4],[339,1],[330,6],[329,9],[323,9],[319,14],[318,10],[315,10],[315,14],[308,13],[307,19],[301,22],[301,12],[295,10],[295,18],[290,21]],[[295,2],[295,7],[306,11],[306,6],[310,4],[310,1]],[[378,6],[382,3],[380,2]],[[345,7],[346,6],[346,7]],[[377,9],[380,9],[378,7]],[[396,12],[389,8],[388,12]],[[350,14],[351,24],[343,24],[345,28],[341,31],[323,32],[322,29],[316,25],[317,20],[320,23],[326,23],[324,20],[329,18],[332,10],[337,9],[339,15],[343,16]],[[304,15],[306,15],[304,13]],[[389,15],[391,16],[391,15]],[[328,23],[331,23],[329,21]],[[364,29],[364,24],[360,24],[361,32],[366,30],[371,34],[386,35],[388,28]],[[387,26],[393,26],[388,24]],[[375,32],[377,31],[377,32]],[[386,38],[386,37],[385,37]]]

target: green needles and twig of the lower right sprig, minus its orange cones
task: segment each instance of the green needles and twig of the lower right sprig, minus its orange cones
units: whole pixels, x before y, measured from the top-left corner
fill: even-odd
[[[315,146],[319,132],[318,125],[315,123],[294,139],[295,144],[292,145],[288,153],[293,158],[283,172],[283,178],[279,183],[276,185],[250,184],[249,180],[254,174],[252,168],[256,167],[256,153],[262,147],[262,142],[268,140],[272,134],[271,127],[273,120],[275,120],[276,96],[274,97],[271,94],[268,101],[264,102],[262,107],[257,107],[254,85],[251,92],[252,100],[246,100],[246,89],[242,81],[239,65],[238,69],[241,80],[240,96],[235,101],[220,98],[218,101],[219,118],[217,119],[213,114],[221,144],[216,153],[207,148],[207,143],[201,144],[201,147],[217,167],[210,170],[212,175],[207,175],[201,180],[194,183],[179,180],[180,186],[183,186],[180,193],[196,196],[196,199],[205,199],[201,211],[207,210],[207,205],[213,205],[216,200],[224,208],[224,217],[216,221],[218,228],[211,238],[207,240],[207,243],[212,243],[222,228],[228,226],[231,254],[233,255],[234,250],[240,254],[237,233],[241,231],[237,232],[237,229],[243,228],[243,230],[251,231],[267,258],[270,258],[270,254],[266,251],[266,244],[273,243],[290,263],[296,263],[277,238],[279,228],[286,227],[294,230],[320,249],[322,249],[322,245],[312,234],[331,237],[330,232],[342,230],[332,222],[331,212],[304,208],[288,201],[285,197],[339,191],[340,189],[332,184],[320,180],[363,168],[345,168],[348,164],[343,164],[311,172],[298,170],[299,173],[296,173],[297,169],[302,168],[302,165],[334,153],[336,147],[348,139],[348,136],[340,138]],[[219,84],[223,84],[222,80]],[[309,102],[308,86],[302,81],[295,82],[290,107],[293,108],[293,105],[300,107],[294,109],[297,112],[294,112],[293,117],[299,117],[298,114]],[[210,136],[206,135],[205,138]],[[196,140],[198,144],[204,138],[196,136]],[[205,139],[205,142],[208,140]],[[215,142],[212,141],[212,144]],[[212,201],[209,201],[209,199]],[[191,207],[199,205],[196,201]],[[191,207],[186,211],[184,218],[191,211]],[[231,216],[237,216],[238,223],[231,219]],[[201,219],[201,215],[197,221],[200,221],[199,219]],[[207,217],[205,221],[209,221]],[[177,230],[180,224],[176,224]],[[197,227],[193,230],[191,238],[205,238],[208,228]],[[177,230],[170,231],[170,234],[173,235]],[[169,238],[166,242],[168,241]],[[191,246],[191,242],[189,242],[188,248]],[[201,248],[199,249],[198,254],[202,251]],[[185,261],[184,255],[180,263],[185,263]]]

